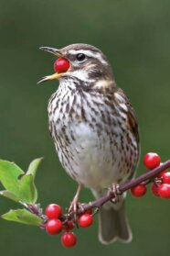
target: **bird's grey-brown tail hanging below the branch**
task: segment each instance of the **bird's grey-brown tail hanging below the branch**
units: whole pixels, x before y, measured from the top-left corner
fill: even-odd
[[[112,243],[117,239],[128,243],[133,239],[123,198],[116,205],[107,203],[101,206],[99,212],[99,239],[104,244]]]

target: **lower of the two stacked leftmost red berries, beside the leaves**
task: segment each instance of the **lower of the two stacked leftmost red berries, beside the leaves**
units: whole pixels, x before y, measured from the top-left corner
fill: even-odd
[[[58,218],[48,219],[46,230],[49,235],[58,235],[62,230],[62,222]]]

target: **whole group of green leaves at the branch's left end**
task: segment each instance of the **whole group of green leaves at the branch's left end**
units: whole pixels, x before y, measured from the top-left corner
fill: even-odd
[[[25,208],[10,210],[2,215],[2,218],[36,226],[42,223],[42,218],[38,214],[35,215],[28,210],[29,206],[36,206],[37,203],[35,176],[41,161],[42,158],[31,161],[26,173],[14,162],[0,161],[0,183],[5,188],[0,191],[0,195],[25,206]]]

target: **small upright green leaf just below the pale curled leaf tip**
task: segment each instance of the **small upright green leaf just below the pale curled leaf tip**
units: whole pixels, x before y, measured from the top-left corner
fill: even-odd
[[[32,174],[24,175],[19,180],[19,197],[22,201],[31,204],[37,201],[37,188]]]

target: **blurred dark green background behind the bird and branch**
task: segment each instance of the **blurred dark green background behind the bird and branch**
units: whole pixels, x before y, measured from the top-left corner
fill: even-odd
[[[68,206],[76,184],[63,172],[48,134],[47,105],[58,82],[37,85],[53,72],[54,57],[40,46],[64,47],[85,42],[108,56],[120,87],[130,97],[141,133],[142,156],[157,151],[170,157],[170,2],[168,0],[0,0],[0,158],[25,170],[45,159],[37,173],[39,202]],[[143,173],[140,164],[138,174]],[[91,200],[85,189],[82,201]],[[0,198],[0,213],[17,207]],[[57,237],[38,228],[0,219],[3,255],[169,255],[170,206],[148,193],[131,195],[127,210],[131,244],[101,245],[97,217],[93,227],[78,230],[79,243],[63,249]]]

